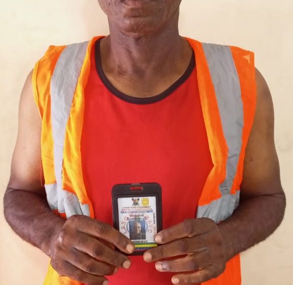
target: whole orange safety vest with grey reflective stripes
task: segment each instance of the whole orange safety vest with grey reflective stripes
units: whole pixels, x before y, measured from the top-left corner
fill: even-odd
[[[33,87],[42,118],[41,152],[47,201],[58,215],[94,218],[82,177],[80,141],[84,89],[96,40],[50,46],[35,66]],[[256,105],[254,54],[233,46],[200,43],[194,49],[200,102],[213,168],[198,202],[196,217],[220,222],[239,205],[245,148]],[[80,285],[49,266],[45,285]],[[203,284],[241,284],[240,256],[219,277]]]

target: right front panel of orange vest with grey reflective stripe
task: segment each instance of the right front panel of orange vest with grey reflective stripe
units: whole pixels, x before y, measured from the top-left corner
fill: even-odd
[[[200,43],[195,49],[203,117],[214,167],[200,196],[197,217],[222,221],[239,204],[244,154],[256,101],[253,53]]]

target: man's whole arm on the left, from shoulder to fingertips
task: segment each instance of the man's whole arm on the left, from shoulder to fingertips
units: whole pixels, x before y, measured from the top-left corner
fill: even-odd
[[[75,215],[55,215],[46,200],[41,178],[41,118],[33,100],[32,73],[22,90],[19,128],[11,177],[4,196],[4,214],[12,229],[51,258],[62,276],[87,284],[106,284],[104,275],[130,267],[121,252],[131,253],[131,241],[110,225]]]

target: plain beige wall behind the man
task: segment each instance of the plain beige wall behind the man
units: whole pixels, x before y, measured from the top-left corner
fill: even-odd
[[[292,0],[183,0],[180,31],[201,41],[255,51],[256,65],[272,91],[276,146],[286,217],[266,242],[243,256],[243,284],[289,285],[293,281],[293,2]],[[0,196],[9,178],[17,130],[17,106],[26,74],[49,44],[66,44],[107,34],[97,0],[0,0]],[[2,212],[2,198],[0,210]],[[47,258],[25,244],[0,215],[0,284],[39,285]]]

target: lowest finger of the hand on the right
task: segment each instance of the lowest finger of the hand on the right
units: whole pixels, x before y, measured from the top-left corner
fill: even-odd
[[[222,272],[215,270],[214,266],[198,270],[190,274],[178,274],[172,277],[172,283],[178,284],[200,284],[218,277]]]

